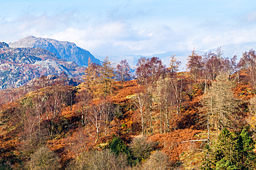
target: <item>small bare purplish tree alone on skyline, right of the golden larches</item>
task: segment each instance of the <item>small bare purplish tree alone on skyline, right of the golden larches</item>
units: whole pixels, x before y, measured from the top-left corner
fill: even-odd
[[[125,80],[128,80],[130,78],[129,72],[131,70],[131,67],[129,66],[129,63],[127,60],[122,60],[116,67],[116,73],[118,75],[118,79],[122,81],[122,85]]]

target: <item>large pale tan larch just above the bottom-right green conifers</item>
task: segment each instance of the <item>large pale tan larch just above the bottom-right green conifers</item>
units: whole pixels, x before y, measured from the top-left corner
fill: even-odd
[[[216,81],[212,81],[209,93],[201,100],[203,110],[207,114],[206,121],[214,129],[229,128],[235,123],[233,113],[237,109],[237,100],[231,88],[232,82],[228,80],[228,74],[221,72]]]

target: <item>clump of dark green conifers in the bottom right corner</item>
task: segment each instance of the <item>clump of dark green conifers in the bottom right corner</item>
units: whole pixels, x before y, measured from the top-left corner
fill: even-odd
[[[237,136],[224,128],[217,140],[205,146],[205,157],[201,169],[255,169],[255,142],[248,130]]]

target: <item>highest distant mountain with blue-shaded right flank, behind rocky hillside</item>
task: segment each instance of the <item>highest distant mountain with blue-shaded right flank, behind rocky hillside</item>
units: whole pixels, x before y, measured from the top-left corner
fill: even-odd
[[[35,36],[26,36],[14,43],[9,43],[10,47],[40,47],[49,52],[53,52],[58,58],[66,59],[66,61],[74,61],[80,66],[86,66],[90,57],[93,63],[100,64],[99,59],[81,47],[77,47],[75,43],[68,41],[57,41],[55,39],[43,39]]]

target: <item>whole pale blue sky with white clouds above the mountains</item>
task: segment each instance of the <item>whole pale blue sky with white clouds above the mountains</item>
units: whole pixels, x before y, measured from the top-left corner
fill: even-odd
[[[33,35],[94,55],[209,50],[256,42],[256,2],[0,0],[0,41]]]

